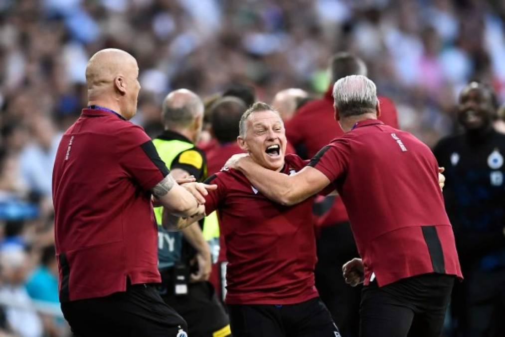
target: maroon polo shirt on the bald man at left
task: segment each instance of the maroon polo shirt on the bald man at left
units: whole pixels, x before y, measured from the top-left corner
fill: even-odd
[[[160,282],[150,189],[168,174],[143,129],[83,109],[63,135],[53,171],[60,301]]]

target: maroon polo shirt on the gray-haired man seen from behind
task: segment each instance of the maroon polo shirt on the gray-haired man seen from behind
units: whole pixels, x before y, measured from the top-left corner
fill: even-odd
[[[462,277],[438,164],[413,135],[360,121],[311,160],[339,192],[365,264],[379,286],[442,273]]]

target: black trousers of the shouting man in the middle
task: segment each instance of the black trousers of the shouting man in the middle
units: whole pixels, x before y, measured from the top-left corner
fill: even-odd
[[[233,337],[340,337],[319,298],[290,305],[228,305]]]

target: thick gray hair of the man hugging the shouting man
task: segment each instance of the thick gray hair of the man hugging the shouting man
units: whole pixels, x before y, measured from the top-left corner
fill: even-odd
[[[375,111],[377,88],[366,76],[350,75],[335,82],[333,99],[340,117],[358,116]]]

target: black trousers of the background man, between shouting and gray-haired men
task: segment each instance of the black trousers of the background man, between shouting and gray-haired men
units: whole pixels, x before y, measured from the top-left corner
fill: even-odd
[[[358,337],[362,286],[350,287],[345,283],[342,266],[358,256],[348,222],[321,229],[317,240],[316,288],[345,337]]]

